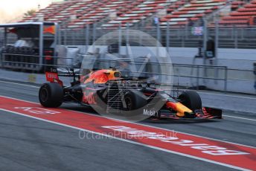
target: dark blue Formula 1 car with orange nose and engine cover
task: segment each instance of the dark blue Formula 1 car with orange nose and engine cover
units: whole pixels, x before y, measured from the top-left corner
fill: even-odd
[[[75,102],[100,109],[100,112],[119,115],[136,113],[152,119],[222,118],[220,109],[202,107],[196,91],[183,91],[173,97],[143,80],[122,77],[121,71],[116,68],[94,70],[84,76],[78,69],[51,68],[45,74],[50,83],[43,84],[39,89],[39,101],[48,108]],[[73,77],[71,86],[63,86],[59,76]]]

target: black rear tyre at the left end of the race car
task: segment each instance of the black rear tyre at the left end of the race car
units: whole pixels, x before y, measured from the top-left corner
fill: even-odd
[[[45,83],[39,89],[39,101],[46,108],[56,108],[63,103],[63,87],[58,83]]]

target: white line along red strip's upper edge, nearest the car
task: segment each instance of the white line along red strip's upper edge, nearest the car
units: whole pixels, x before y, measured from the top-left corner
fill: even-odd
[[[6,96],[1,96],[1,95],[0,95],[0,97],[6,97]],[[6,97],[6,98],[10,98],[10,99],[13,99],[13,100],[19,100],[19,99],[13,98],[13,97]],[[39,103],[31,102],[31,101],[28,101],[28,100],[21,100],[21,101],[23,101],[23,102],[28,102],[28,103],[33,103],[33,104],[38,104],[38,105],[39,105]],[[90,114],[90,113],[85,113],[85,112],[74,111],[74,110],[71,110],[71,109],[65,109],[65,110],[72,111],[72,112],[78,112],[78,113],[81,113],[81,114],[89,114],[89,115],[91,115],[91,116],[96,116],[96,117],[104,117],[104,116],[101,116],[101,115],[96,115],[96,114]],[[111,117],[104,117],[104,118],[112,119],[112,120],[118,120],[118,119],[111,118]],[[127,123],[132,123],[132,122],[129,122],[129,121],[124,121],[124,120],[118,120],[118,121],[127,122]],[[142,123],[134,123],[134,124],[141,125],[141,126],[149,126],[150,128],[155,128],[155,129],[163,129],[163,130],[166,130],[166,131],[173,131],[173,130],[170,130],[170,129],[164,129],[164,128],[161,128],[161,127],[150,126],[150,125],[142,124]],[[241,144],[241,143],[233,143],[233,142],[229,142],[229,141],[223,141],[223,140],[220,140],[220,139],[208,138],[208,137],[204,137],[204,136],[201,136],[201,135],[193,135],[193,134],[190,134],[190,133],[187,133],[187,132],[179,132],[179,131],[176,131],[176,130],[175,130],[175,132],[182,133],[182,134],[185,134],[185,135],[192,135],[192,136],[199,137],[199,138],[206,138],[206,139],[208,139],[208,140],[220,141],[220,142],[223,142],[223,143],[232,143],[232,144],[235,144],[235,145],[246,146],[246,147],[249,147],[249,148],[256,149],[256,146],[248,146],[248,145],[244,145],[244,144]]]

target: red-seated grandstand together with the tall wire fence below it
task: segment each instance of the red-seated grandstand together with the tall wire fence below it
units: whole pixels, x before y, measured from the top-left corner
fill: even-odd
[[[219,48],[256,48],[256,0],[66,0],[20,22],[37,21],[59,23],[60,45],[92,45],[109,30],[131,28],[169,47],[217,37]]]

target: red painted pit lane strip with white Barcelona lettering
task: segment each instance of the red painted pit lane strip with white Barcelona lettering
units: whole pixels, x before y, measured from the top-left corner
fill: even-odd
[[[173,130],[112,120],[84,112],[60,108],[49,110],[37,103],[0,96],[0,115],[9,112],[225,167],[256,170],[256,148],[252,146],[182,132],[173,133]]]

